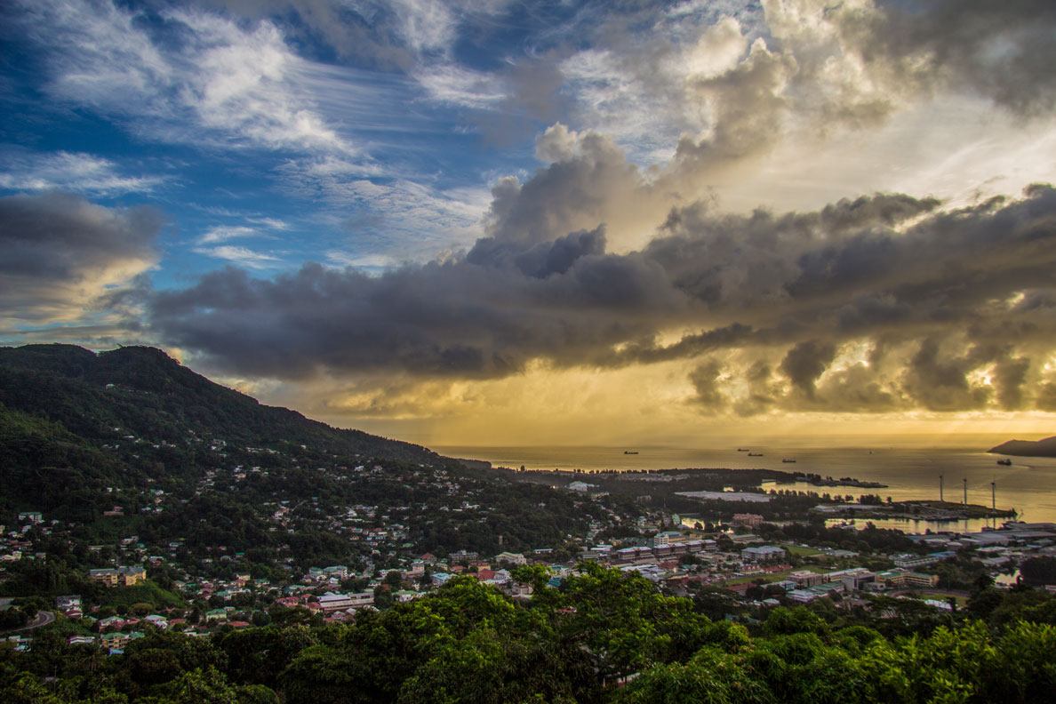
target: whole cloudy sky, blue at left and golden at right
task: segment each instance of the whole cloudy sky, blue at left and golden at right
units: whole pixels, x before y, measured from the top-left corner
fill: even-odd
[[[433,445],[1056,434],[1051,0],[6,0],[0,344]]]

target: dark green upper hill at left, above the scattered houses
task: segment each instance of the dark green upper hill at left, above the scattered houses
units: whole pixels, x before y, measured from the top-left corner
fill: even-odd
[[[196,476],[218,445],[232,453],[281,452],[294,462],[299,453],[304,461],[442,460],[418,445],[262,405],[152,347],[99,354],[61,344],[0,348],[0,464],[6,475],[0,508],[61,508],[68,517],[89,519],[107,508],[100,505],[107,487]]]

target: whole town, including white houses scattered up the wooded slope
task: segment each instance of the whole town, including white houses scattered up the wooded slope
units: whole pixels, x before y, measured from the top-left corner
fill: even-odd
[[[234,454],[226,441],[207,444],[218,459]],[[244,449],[250,455],[262,452]],[[862,521],[862,530],[824,528],[823,522],[814,535],[805,537],[811,532],[809,520],[731,513],[730,507],[758,505],[751,498],[732,501],[736,494],[703,496],[697,501],[699,512],[678,515],[657,509],[652,496],[621,500],[581,480],[561,487],[505,483],[501,471],[474,476],[457,463],[382,462],[320,468],[315,483],[325,487],[332,481],[352,493],[385,495],[384,501],[343,505],[319,496],[260,501],[246,520],[253,528],[250,535],[267,536],[272,549],[218,534],[216,526],[202,526],[215,524],[224,512],[209,521],[199,519],[188,535],[158,532],[177,512],[193,513],[201,502],[214,506],[239,490],[264,484],[269,472],[259,465],[207,471],[182,493],[155,489],[161,480],[148,482],[134,496],[128,489],[111,492],[119,499],[101,520],[127,522],[130,513],[138,514],[134,521],[164,539],[131,534],[112,543],[83,544],[76,537],[82,527],[74,522],[43,511],[19,512],[0,529],[0,589],[19,594],[0,600],[4,623],[12,629],[6,638],[16,649],[29,650],[33,626],[40,626],[57,629],[70,644],[92,644],[116,654],[151,629],[202,636],[271,623],[347,623],[363,610],[419,598],[459,575],[514,600],[528,600],[532,586],[516,578],[518,567],[545,568],[555,587],[579,574],[583,563],[636,572],[663,593],[719,597],[712,614],[718,619],[757,621],[767,609],[818,601],[830,605],[826,608],[871,609],[879,596],[898,597],[882,602],[892,615],[900,602],[942,612],[963,607],[980,587],[1015,584],[1011,575],[1034,558],[1056,556],[1052,524],[1007,522],[978,533],[905,536],[876,530],[867,521]],[[648,486],[657,478],[645,475],[640,480]],[[511,532],[506,539],[518,546],[515,550],[420,550],[436,541],[438,526],[445,539],[460,544],[459,529],[468,533],[470,527],[488,527],[489,519],[494,524],[491,492],[504,483],[510,494],[533,492],[532,498],[520,501],[545,496],[580,517],[566,525],[574,532],[539,545],[527,545]],[[408,500],[415,490],[430,498]],[[528,510],[542,512],[546,503],[533,501]],[[823,502],[815,513],[828,515],[832,506]],[[499,510],[511,512],[502,506]],[[204,528],[215,543],[204,539]],[[299,549],[299,533],[327,535],[340,546],[332,554],[347,558],[338,564],[305,562],[308,555]],[[504,536],[489,535],[483,543],[489,540],[502,546]],[[72,563],[90,567],[70,573]],[[87,588],[55,593],[77,585]]]

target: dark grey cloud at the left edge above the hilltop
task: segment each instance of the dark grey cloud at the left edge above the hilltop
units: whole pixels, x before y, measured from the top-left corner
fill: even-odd
[[[0,318],[71,320],[154,264],[161,225],[68,193],[0,198]]]

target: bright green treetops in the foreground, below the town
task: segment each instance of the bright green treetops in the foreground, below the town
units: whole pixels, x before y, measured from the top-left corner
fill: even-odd
[[[352,624],[151,631],[121,654],[52,632],[29,653],[0,646],[0,689],[12,704],[1003,704],[1056,691],[1056,600],[1043,592],[987,588],[945,614],[778,608],[741,624],[636,573],[581,567],[557,588],[521,568],[527,603],[459,577]]]

